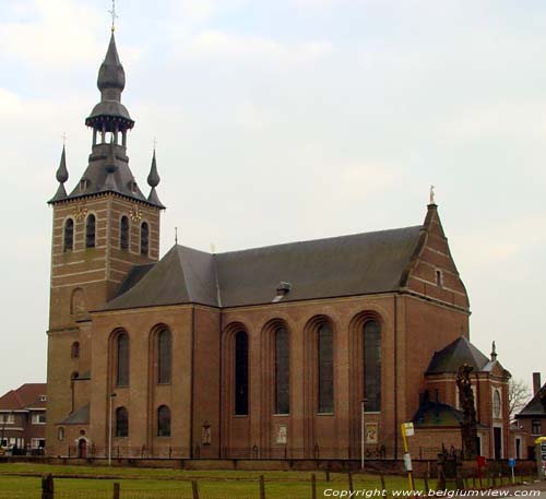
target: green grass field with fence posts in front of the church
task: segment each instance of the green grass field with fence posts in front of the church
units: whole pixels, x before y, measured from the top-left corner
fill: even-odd
[[[40,498],[40,476],[47,473],[55,477],[56,499],[110,499],[114,483],[120,484],[121,499],[191,499],[192,480],[198,483],[200,499],[259,499],[260,475],[264,476],[268,499],[311,497],[311,473],[308,472],[200,472],[1,464],[0,498]],[[347,474],[331,473],[329,483],[324,472],[314,475],[319,498],[324,497],[325,489],[348,490]],[[407,488],[404,477],[390,476],[385,480],[389,490]],[[355,490],[381,489],[378,476],[354,474],[353,483]],[[419,480],[417,486],[424,488],[424,483]]]

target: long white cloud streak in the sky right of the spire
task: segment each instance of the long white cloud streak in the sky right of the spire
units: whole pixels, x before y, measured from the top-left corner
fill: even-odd
[[[312,40],[294,45],[272,38],[205,29],[194,35],[180,54],[182,58],[259,59],[281,64],[313,62],[333,52],[330,41]]]

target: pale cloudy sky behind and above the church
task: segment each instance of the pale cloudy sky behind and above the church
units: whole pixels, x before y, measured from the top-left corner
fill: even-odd
[[[71,190],[108,0],[0,0],[0,393],[46,381],[51,210]],[[162,253],[422,224],[429,186],[471,341],[546,381],[546,4],[522,0],[118,0],[128,154],[154,138]]]

